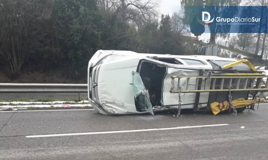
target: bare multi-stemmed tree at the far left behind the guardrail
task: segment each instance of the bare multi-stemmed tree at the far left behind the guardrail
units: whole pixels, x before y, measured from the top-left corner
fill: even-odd
[[[12,72],[20,72],[35,22],[40,17],[48,16],[47,12],[42,10],[43,2],[51,3],[51,0],[0,2],[0,54],[8,60]]]

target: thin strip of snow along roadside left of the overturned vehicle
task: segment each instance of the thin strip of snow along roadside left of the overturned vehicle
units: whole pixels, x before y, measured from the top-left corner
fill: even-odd
[[[51,102],[21,102],[21,101],[14,101],[14,102],[0,102],[0,105],[1,104],[4,104],[4,105],[10,105],[10,104],[70,104],[70,103],[73,103],[73,104],[82,104],[82,103],[87,103],[89,104],[89,101],[86,101],[86,100],[83,100],[83,101],[79,101],[79,102],[76,102],[76,101],[51,101]]]

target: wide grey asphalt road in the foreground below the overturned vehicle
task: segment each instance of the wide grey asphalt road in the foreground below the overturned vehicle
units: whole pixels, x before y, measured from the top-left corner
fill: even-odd
[[[0,159],[268,159],[267,105],[238,116],[183,114],[0,112]],[[189,127],[170,128],[181,126]]]

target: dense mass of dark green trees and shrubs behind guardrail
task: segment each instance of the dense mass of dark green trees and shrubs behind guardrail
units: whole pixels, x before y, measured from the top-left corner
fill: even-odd
[[[96,0],[0,0],[0,63],[11,72],[64,69],[79,78],[100,49],[183,54],[169,15],[160,23],[140,17],[137,25],[118,11],[100,8]]]

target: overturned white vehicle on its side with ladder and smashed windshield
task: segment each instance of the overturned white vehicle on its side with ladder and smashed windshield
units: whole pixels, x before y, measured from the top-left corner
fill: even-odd
[[[266,77],[245,59],[99,50],[89,61],[88,95],[106,115],[180,109],[236,114],[254,110],[262,100],[257,92],[267,91],[267,83],[260,88]]]

